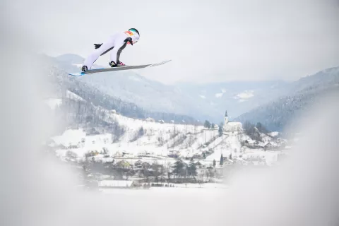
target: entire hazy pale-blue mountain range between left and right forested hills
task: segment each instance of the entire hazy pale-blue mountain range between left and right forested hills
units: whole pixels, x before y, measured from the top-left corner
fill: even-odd
[[[57,61],[63,69],[71,71],[79,70],[83,59],[65,54],[57,57]],[[284,81],[261,81],[165,85],[139,76],[135,71],[100,73],[83,76],[78,81],[152,112],[190,115],[216,124],[222,121],[226,109],[230,117],[237,117],[282,95],[285,85],[288,84]]]

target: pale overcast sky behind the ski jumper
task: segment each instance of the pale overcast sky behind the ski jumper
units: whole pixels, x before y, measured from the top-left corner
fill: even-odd
[[[15,3],[15,1],[13,1]],[[296,80],[339,66],[338,0],[85,1],[13,4],[37,51],[86,57],[93,43],[137,28],[125,64],[172,59],[142,76],[163,83]],[[108,66],[109,54],[97,63]]]

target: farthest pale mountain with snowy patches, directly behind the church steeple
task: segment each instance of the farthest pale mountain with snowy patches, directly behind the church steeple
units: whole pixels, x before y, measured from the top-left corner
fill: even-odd
[[[205,100],[210,109],[218,112],[215,117],[222,117],[227,109],[234,119],[239,114],[283,95],[288,84],[285,81],[242,81],[203,85],[178,83],[177,86],[184,95]]]

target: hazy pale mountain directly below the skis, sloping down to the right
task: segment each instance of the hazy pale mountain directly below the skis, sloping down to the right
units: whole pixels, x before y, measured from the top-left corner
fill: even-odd
[[[57,66],[66,71],[80,70],[83,61],[81,57],[73,54],[65,54],[56,59]],[[134,71],[100,73],[76,79],[119,100],[133,102],[148,112],[190,115],[201,120],[210,119],[210,116],[213,116],[210,112],[214,110],[206,107],[208,104],[204,100],[187,97],[175,86],[150,81]],[[214,115],[218,113],[221,115],[218,121],[222,120],[222,112],[214,112]]]

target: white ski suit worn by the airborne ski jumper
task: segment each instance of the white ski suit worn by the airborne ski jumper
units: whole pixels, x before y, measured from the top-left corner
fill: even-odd
[[[133,44],[138,42],[139,37],[140,36],[138,33],[134,32],[133,30],[121,33],[119,32],[115,35],[112,35],[106,42],[102,43],[98,49],[95,49],[95,51],[85,59],[83,66],[87,66],[88,70],[90,70],[94,62],[100,56],[106,54],[110,50],[112,50],[111,61],[114,61],[114,64],[119,64],[119,57],[122,49],[124,49],[126,45],[130,44],[131,42],[133,42]]]

